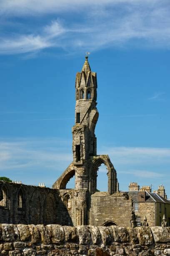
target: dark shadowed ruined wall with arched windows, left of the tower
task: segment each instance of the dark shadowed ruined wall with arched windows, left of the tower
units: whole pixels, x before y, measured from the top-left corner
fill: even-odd
[[[0,223],[72,225],[58,189],[0,182],[0,195]]]

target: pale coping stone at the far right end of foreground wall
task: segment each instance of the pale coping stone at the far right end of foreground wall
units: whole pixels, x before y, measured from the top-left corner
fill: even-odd
[[[150,227],[155,243],[170,243],[170,228]]]

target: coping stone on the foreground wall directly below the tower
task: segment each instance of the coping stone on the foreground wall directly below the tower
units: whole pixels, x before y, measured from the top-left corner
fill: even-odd
[[[90,244],[91,234],[90,234],[90,228],[88,226],[78,226],[77,235],[78,235],[80,244]]]

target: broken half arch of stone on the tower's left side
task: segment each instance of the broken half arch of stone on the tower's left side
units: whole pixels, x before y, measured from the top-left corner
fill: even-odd
[[[67,182],[75,175],[75,169],[73,163],[70,164],[67,169],[62,173],[59,179],[53,184],[52,188],[65,189]]]

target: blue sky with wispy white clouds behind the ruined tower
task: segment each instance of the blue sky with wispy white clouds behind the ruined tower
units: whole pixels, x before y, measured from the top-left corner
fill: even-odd
[[[120,190],[163,184],[170,198],[169,13],[169,0],[1,0],[0,176],[51,187],[70,164],[75,75],[89,51],[97,154],[110,156]]]

